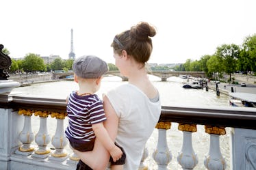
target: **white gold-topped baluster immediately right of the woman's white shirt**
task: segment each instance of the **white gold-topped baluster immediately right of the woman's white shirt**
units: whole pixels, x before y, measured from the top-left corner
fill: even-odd
[[[168,149],[166,130],[170,129],[170,122],[159,122],[155,128],[158,129],[157,150],[153,152],[153,159],[157,162],[159,170],[166,170],[172,160],[172,153]]]

